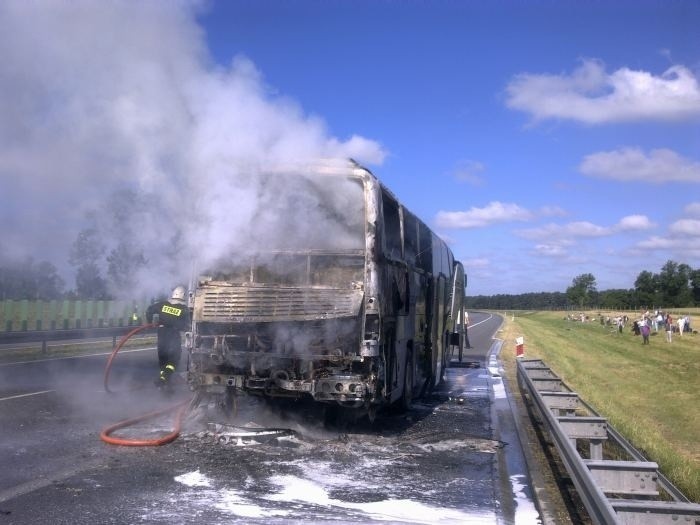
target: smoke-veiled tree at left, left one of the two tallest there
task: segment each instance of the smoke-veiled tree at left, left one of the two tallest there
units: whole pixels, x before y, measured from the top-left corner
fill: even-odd
[[[78,233],[71,247],[69,262],[76,267],[75,295],[81,299],[109,299],[107,281],[100,271],[105,246],[97,228]]]

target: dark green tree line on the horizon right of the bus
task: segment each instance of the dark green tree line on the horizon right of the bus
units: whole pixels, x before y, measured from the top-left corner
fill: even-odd
[[[584,273],[573,278],[566,292],[467,295],[468,308],[492,310],[564,310],[604,308],[682,308],[700,306],[700,269],[667,261],[658,273],[641,272],[634,288],[598,291],[596,278]]]

